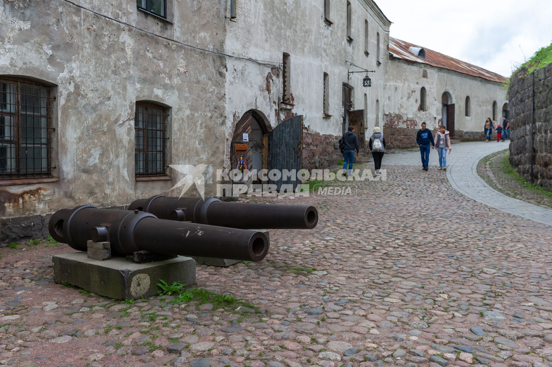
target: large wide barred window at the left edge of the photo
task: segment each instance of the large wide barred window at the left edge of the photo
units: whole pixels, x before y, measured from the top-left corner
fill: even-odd
[[[0,76],[0,179],[52,177],[51,88]]]

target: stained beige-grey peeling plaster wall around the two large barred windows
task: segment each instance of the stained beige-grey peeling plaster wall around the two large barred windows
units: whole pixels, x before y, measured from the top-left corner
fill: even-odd
[[[224,49],[222,0],[169,1],[173,24],[138,10],[135,1],[79,3],[168,38]],[[147,35],[62,0],[2,1],[0,29],[0,75],[55,86],[53,174],[59,178],[0,187],[2,217],[168,194],[181,178],[176,172],[168,171],[172,180],[135,180],[136,100],[170,107],[167,163],[204,163],[207,173],[222,166],[224,57]]]

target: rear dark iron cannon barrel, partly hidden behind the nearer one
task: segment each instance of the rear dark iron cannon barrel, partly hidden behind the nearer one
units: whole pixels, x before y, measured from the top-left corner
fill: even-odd
[[[216,198],[169,198],[164,195],[132,201],[129,210],[161,219],[232,228],[312,229],[318,211],[308,205],[223,203]]]

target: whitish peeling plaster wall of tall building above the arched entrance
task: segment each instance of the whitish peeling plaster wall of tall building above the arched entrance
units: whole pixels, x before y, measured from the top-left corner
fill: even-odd
[[[283,52],[288,53],[291,56],[291,93],[295,106],[291,110],[283,110],[285,106],[280,104],[281,68],[271,70],[270,67],[251,62],[229,59],[226,79],[226,127],[229,139],[232,136],[232,119],[240,119],[250,109],[257,109],[266,115],[270,128],[291,115],[303,115],[304,126],[310,134],[341,136],[343,83],[354,88],[353,109],[364,109],[364,93],[367,93],[366,126],[371,132],[376,120],[376,99],[380,100],[380,106],[383,100],[390,24],[378,18],[377,8],[371,0],[351,0],[351,5],[354,41],[349,43],[346,40],[345,1],[331,2],[329,19],[333,24],[328,25],[323,19],[323,1],[238,0],[236,22],[227,22],[226,51],[273,63],[282,63]],[[369,24],[369,56],[364,54],[365,19]],[[378,32],[379,66],[375,60]],[[371,88],[362,86],[363,73],[354,74],[351,80],[347,80],[346,61],[376,71],[369,75],[372,79]],[[351,67],[351,71],[359,69]],[[331,118],[323,118],[324,72],[328,73],[330,79]],[[383,116],[381,107],[380,115]],[[309,148],[304,146],[304,151]],[[304,154],[305,168],[314,167],[313,162],[305,161],[310,156]]]

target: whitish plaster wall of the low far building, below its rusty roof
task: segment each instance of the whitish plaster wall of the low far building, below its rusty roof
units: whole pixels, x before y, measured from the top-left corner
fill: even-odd
[[[426,73],[424,73],[426,71]],[[507,103],[506,90],[500,83],[487,81],[442,68],[391,58],[388,65],[388,81],[385,87],[385,127],[389,131],[386,141],[394,146],[394,135],[400,146],[416,146],[416,131],[422,122],[435,130],[442,118],[444,92],[452,95],[455,104],[455,134],[457,139],[479,140],[484,137],[484,124],[492,118],[492,103],[497,102],[497,120],[502,122],[502,106]],[[427,75],[427,77],[423,77]],[[426,88],[427,110],[420,110],[420,91]],[[470,97],[470,116],[465,116],[466,96]],[[407,128],[408,132],[396,130]],[[390,129],[391,128],[391,129]],[[388,135],[386,135],[388,136]],[[399,138],[402,136],[404,139]],[[496,135],[495,135],[496,136]],[[407,144],[405,139],[410,139]]]

